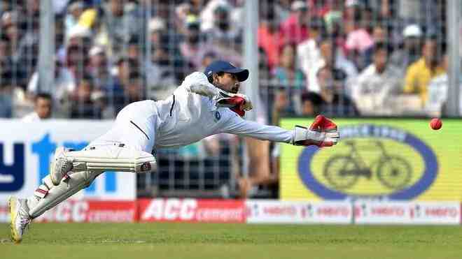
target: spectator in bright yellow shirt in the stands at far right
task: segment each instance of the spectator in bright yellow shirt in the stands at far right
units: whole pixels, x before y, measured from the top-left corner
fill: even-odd
[[[444,73],[440,66],[440,58],[437,56],[437,42],[434,38],[428,38],[423,43],[422,57],[407,68],[405,94],[418,94],[422,105],[427,100],[428,82],[433,77]]]

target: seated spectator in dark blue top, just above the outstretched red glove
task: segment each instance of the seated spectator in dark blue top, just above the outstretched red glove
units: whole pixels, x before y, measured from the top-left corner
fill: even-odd
[[[329,66],[323,66],[317,73],[320,95],[323,98],[321,114],[326,116],[356,116],[359,114],[355,103],[343,94],[344,73]]]

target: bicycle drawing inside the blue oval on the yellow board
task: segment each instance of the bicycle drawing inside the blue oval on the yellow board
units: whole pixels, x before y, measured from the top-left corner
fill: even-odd
[[[349,140],[344,142],[349,146],[349,154],[332,156],[325,163],[323,176],[328,183],[337,190],[346,190],[357,184],[360,177],[372,180],[375,175],[379,182],[386,188],[401,190],[405,188],[412,177],[412,168],[409,162],[398,155],[391,155],[386,151],[383,142],[373,141],[380,152],[380,156],[374,159],[370,165],[360,156],[356,142]]]

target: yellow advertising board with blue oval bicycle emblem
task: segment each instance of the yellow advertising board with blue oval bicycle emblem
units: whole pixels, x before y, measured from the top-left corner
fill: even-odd
[[[286,200],[462,200],[462,119],[335,119],[334,147],[283,145],[280,196]],[[286,118],[283,128],[312,118]]]

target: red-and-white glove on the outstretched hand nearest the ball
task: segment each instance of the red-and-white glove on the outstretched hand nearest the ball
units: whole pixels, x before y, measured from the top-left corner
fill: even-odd
[[[332,147],[340,138],[337,125],[323,115],[318,115],[309,128],[295,126],[293,145]]]

